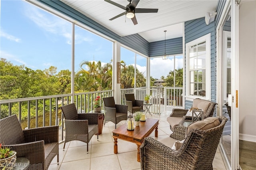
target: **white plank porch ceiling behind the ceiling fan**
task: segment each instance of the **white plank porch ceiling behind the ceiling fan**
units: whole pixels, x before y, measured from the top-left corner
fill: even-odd
[[[95,22],[115,32],[119,36],[140,34],[148,42],[182,36],[183,22],[202,18],[206,12],[216,10],[218,0],[140,0],[136,8],[158,8],[157,13],[135,14],[138,21],[121,16],[110,21],[110,18],[124,12],[104,0],[60,0]],[[129,4],[127,0],[112,0],[122,6]]]

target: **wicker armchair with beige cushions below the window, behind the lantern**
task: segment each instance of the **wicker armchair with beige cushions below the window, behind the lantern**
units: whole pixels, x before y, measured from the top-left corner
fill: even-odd
[[[201,105],[198,103],[201,103]],[[200,108],[202,107],[205,108]],[[207,105],[207,107],[206,107]],[[203,100],[203,99],[194,99],[192,107],[198,107],[199,109],[204,110],[204,118],[206,117],[212,117],[215,105],[217,103]],[[184,126],[184,123],[192,123],[192,117],[186,116],[186,113],[188,112],[188,109],[173,109],[172,114],[170,117],[167,118],[168,123],[170,124],[170,129],[172,130],[172,134],[170,135],[171,138],[177,139],[177,140],[183,140],[185,138],[185,132],[186,132],[186,126]]]

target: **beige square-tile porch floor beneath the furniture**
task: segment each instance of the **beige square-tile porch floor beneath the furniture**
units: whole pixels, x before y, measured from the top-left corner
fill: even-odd
[[[158,137],[154,137],[154,132],[150,134],[156,140],[168,138],[172,133],[170,125],[166,121],[170,113],[161,115],[148,115],[150,118],[159,119]],[[117,127],[123,125],[125,121],[118,123]],[[118,154],[114,154],[114,141],[112,130],[115,125],[112,122],[106,123],[102,134],[93,136],[89,143],[89,153],[86,153],[86,143],[71,141],[66,143],[63,151],[63,144],[59,148],[59,165],[56,164],[57,158],[52,160],[48,170],[139,170],[140,162],[137,162],[137,145],[131,142],[118,139]],[[219,149],[213,161],[214,170],[226,170]]]

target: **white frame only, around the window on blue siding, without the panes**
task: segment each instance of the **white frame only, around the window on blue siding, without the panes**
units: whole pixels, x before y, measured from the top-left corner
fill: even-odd
[[[196,45],[201,42],[206,42],[206,68],[205,68],[205,91],[206,96],[199,96],[199,95],[190,95],[190,69],[189,69],[189,58],[190,58],[190,50],[189,47]],[[196,40],[186,43],[186,100],[192,101],[193,99],[200,98],[205,100],[210,100],[211,96],[211,34],[206,34]]]

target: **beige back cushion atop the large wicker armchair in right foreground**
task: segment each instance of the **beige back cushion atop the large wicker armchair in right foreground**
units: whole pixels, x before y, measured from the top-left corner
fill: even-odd
[[[190,132],[190,130],[194,129],[194,128],[198,128],[201,130],[207,130],[210,128],[214,128],[216,126],[220,125],[220,121],[218,118],[216,117],[207,117],[206,119],[202,120],[202,121],[197,121],[194,122],[190,125],[188,125],[187,129],[186,129],[186,134],[188,134]]]

